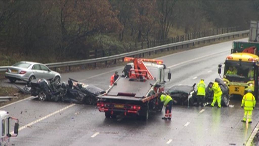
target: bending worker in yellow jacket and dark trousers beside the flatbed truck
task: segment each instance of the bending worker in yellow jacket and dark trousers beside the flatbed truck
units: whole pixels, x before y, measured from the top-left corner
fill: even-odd
[[[162,119],[166,120],[171,120],[172,117],[172,97],[167,95],[167,94],[162,94],[160,96],[160,101],[164,103],[164,107],[166,107],[166,114],[164,115],[164,117],[162,117]]]

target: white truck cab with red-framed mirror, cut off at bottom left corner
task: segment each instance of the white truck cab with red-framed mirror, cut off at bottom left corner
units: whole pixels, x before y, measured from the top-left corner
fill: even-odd
[[[18,135],[19,121],[17,118],[10,117],[9,113],[0,110],[0,146],[7,146],[10,143],[10,137],[16,137]],[[10,131],[10,126],[14,125],[14,131]]]

